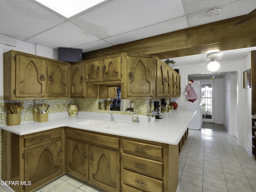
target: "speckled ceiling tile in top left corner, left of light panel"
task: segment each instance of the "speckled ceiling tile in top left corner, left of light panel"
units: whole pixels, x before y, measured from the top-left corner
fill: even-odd
[[[64,22],[64,19],[28,0],[1,0],[0,34],[24,40]]]

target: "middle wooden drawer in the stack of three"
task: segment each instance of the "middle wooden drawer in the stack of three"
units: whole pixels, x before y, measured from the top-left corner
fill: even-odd
[[[122,154],[122,165],[123,168],[152,176],[154,178],[163,178],[163,163],[145,159],[133,155]]]

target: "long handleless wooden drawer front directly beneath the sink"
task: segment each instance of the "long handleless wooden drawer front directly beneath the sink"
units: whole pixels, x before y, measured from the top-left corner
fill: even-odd
[[[84,131],[66,129],[66,136],[72,140],[82,141],[97,146],[104,146],[120,149],[120,139],[110,136],[104,136],[94,133],[88,133]]]

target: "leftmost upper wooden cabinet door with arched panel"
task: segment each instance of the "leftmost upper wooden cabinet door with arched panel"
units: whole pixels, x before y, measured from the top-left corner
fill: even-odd
[[[45,60],[16,54],[16,97],[44,97],[45,75]]]

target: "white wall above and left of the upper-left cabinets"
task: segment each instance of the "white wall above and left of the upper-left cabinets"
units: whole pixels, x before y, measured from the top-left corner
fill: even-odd
[[[54,50],[52,48],[48,48],[48,47],[45,47],[45,46],[42,46],[39,44],[32,44],[32,43],[17,40],[14,38],[6,37],[3,35],[0,35],[0,38],[1,37],[15,40],[16,47],[0,44],[0,96],[4,95],[4,80],[3,80],[4,56],[3,56],[3,54],[5,52],[8,52],[10,50],[16,50],[16,51],[29,53],[29,54],[33,54],[33,55],[38,55],[38,56],[42,56],[42,57],[58,59],[58,50]]]

